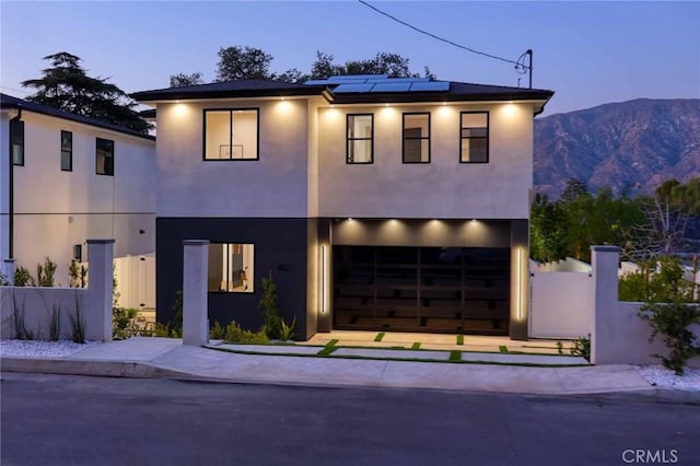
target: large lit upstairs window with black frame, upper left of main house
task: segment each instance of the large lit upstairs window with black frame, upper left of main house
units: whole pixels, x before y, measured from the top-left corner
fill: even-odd
[[[205,160],[258,160],[258,109],[205,110]]]

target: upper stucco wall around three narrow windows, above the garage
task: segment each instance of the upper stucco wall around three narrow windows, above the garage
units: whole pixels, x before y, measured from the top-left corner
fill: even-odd
[[[489,163],[459,163],[459,112],[488,110]],[[431,162],[405,164],[405,112],[431,113]],[[374,114],[374,163],[346,163],[346,115]],[[334,106],[319,110],[319,214],[526,219],[532,104]]]

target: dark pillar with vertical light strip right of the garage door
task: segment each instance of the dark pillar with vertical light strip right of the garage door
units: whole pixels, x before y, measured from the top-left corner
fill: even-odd
[[[529,223],[511,220],[511,318],[512,340],[527,340],[529,319]]]

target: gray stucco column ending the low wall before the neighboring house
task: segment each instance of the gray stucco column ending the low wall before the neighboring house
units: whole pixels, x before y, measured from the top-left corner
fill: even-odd
[[[114,240],[88,240],[88,292],[82,303],[88,340],[112,341],[113,261]]]

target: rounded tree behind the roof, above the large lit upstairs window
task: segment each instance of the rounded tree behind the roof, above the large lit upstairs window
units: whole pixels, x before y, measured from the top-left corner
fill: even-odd
[[[233,46],[219,50],[217,81],[271,79],[272,56],[260,48]]]

